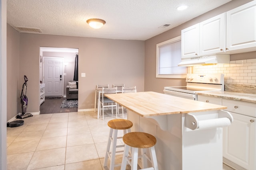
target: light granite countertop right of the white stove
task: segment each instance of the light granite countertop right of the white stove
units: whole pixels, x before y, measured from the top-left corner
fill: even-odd
[[[230,91],[208,91],[197,92],[198,95],[211,96],[216,98],[237,100],[242,102],[251,102],[256,104],[256,94],[242,93],[242,92],[230,92]]]

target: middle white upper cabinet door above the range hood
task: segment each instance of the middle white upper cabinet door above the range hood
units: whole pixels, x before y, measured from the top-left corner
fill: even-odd
[[[200,55],[226,51],[226,13],[200,23]]]

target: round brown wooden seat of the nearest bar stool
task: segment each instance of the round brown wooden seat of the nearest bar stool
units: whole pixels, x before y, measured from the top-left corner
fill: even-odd
[[[126,145],[135,148],[150,148],[156,145],[156,138],[144,132],[131,132],[123,136]]]

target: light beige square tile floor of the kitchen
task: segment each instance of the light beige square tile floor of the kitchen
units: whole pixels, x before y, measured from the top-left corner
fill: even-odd
[[[94,111],[42,114],[8,127],[8,170],[106,170],[107,122],[114,117],[104,118],[97,119]],[[116,162],[121,161],[122,155],[117,156]],[[223,164],[223,170],[232,168]]]

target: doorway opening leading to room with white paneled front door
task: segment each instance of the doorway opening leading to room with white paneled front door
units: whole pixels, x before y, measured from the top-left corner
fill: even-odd
[[[42,101],[40,102],[40,114],[77,111],[77,108],[60,108],[58,106],[66,100],[68,82],[74,82],[76,56],[78,56],[78,49],[40,47],[39,80],[40,101]],[[74,100],[76,100],[74,102],[78,102],[78,94],[77,99]]]

